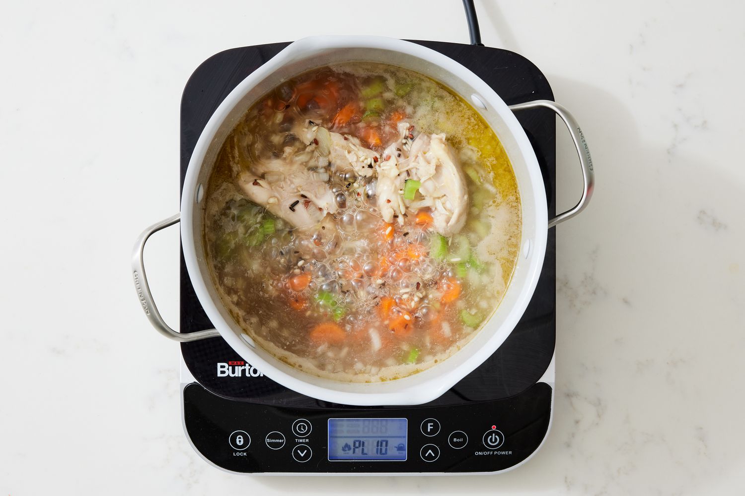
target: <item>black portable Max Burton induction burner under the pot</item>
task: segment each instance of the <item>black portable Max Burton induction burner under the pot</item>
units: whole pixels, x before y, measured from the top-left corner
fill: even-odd
[[[416,42],[478,74],[508,105],[553,100],[533,63],[478,45]],[[181,103],[181,184],[212,112],[235,86],[288,43],[234,48],[194,71]],[[554,215],[554,112],[516,114],[538,155]],[[556,238],[548,233],[536,292],[507,341],[433,402],[357,407],[289,390],[222,338],[181,344],[183,425],[194,449],[226,471],[264,474],[477,474],[506,471],[540,447],[551,425],[556,338]],[[181,254],[181,332],[212,324]]]

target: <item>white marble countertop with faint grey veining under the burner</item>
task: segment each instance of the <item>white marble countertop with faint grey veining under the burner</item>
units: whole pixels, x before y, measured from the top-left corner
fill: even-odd
[[[554,424],[509,473],[368,477],[354,494],[742,494],[745,4],[476,3],[484,43],[542,69],[596,164],[592,204],[557,232]],[[378,0],[354,25],[351,4],[4,5],[0,494],[352,494],[346,477],[203,462],[178,347],[129,271],[139,232],[178,210],[180,97],[203,59],[320,33],[468,40],[458,0]],[[575,169],[559,132],[559,206]],[[177,242],[165,231],[146,254],[171,322]]]

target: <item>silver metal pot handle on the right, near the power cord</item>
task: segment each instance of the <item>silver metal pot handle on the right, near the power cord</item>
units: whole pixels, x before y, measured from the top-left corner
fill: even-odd
[[[580,213],[587,206],[590,197],[592,197],[592,190],[595,188],[595,170],[592,168],[590,149],[587,147],[585,135],[583,135],[580,125],[569,111],[559,105],[559,103],[551,100],[533,100],[532,102],[510,105],[510,110],[515,112],[517,110],[535,109],[539,107],[553,110],[559,117],[561,117],[561,120],[564,121],[566,128],[569,130],[569,134],[571,135],[571,139],[574,141],[574,146],[577,148],[577,156],[580,158],[580,167],[582,167],[582,179],[585,184],[580,201],[577,202],[574,207],[571,207],[565,212],[559,213],[559,215],[548,221],[548,228],[553,228],[560,222],[564,222],[566,219],[571,219],[576,216],[577,213]]]

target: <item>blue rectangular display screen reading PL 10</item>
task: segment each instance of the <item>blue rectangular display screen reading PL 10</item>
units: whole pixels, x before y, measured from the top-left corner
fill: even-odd
[[[406,419],[329,419],[329,460],[405,461]]]

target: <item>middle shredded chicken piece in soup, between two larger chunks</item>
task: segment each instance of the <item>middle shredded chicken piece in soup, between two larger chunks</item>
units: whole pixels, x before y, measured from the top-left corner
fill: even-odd
[[[329,158],[334,172],[353,170],[358,177],[369,177],[375,173],[378,154],[362,146],[360,140],[352,135],[330,132],[323,126],[311,123],[299,126],[295,134],[306,145],[312,143],[317,146],[317,152]]]

